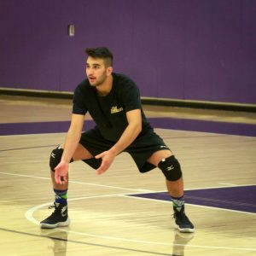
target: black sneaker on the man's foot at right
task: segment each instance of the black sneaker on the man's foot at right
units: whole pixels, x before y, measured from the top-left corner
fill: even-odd
[[[184,207],[178,212],[174,209],[173,218],[175,219],[176,228],[182,233],[194,233],[195,228],[184,212]]]

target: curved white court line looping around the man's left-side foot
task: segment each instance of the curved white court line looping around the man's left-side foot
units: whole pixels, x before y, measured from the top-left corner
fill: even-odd
[[[125,195],[123,195],[123,194],[93,195],[93,196],[73,198],[73,199],[69,199],[69,201],[77,201],[77,200],[92,199],[92,198],[102,198],[102,197],[111,197],[111,196],[125,196]],[[41,204],[41,205],[38,205],[36,207],[32,207],[32,208],[28,209],[25,213],[26,219],[29,220],[30,222],[32,222],[33,224],[38,224],[39,225],[40,224],[39,221],[37,219],[33,218],[33,213],[35,211],[37,211],[38,209],[42,208],[42,207],[49,206],[50,204],[52,204],[52,202],[44,203],[44,204]],[[57,228],[55,230],[64,231],[64,230],[59,229],[59,228]],[[99,235],[95,235],[95,234],[90,234],[90,233],[85,233],[85,232],[78,232],[78,231],[73,231],[73,230],[65,230],[65,232],[75,234],[75,235],[80,235],[80,236],[90,236],[90,237],[96,237],[96,238],[107,239],[107,240],[115,240],[115,241],[129,241],[129,242],[134,242],[134,243],[155,244],[155,245],[165,245],[165,246],[177,245],[177,246],[185,246],[185,247],[197,247],[197,248],[208,248],[208,249],[210,249],[210,248],[211,249],[225,249],[225,250],[241,250],[241,251],[255,251],[256,252],[256,248],[214,247],[214,246],[200,246],[200,245],[189,245],[189,244],[176,244],[176,243],[171,243],[171,242],[134,240],[134,239],[114,237],[114,236],[99,236]]]

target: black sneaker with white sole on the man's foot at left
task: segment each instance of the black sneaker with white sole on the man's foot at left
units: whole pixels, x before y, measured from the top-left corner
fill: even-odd
[[[54,229],[56,227],[68,226],[70,220],[67,216],[67,205],[63,206],[61,204],[56,204],[49,208],[55,208],[55,211],[51,213],[48,218],[41,221],[41,229]]]

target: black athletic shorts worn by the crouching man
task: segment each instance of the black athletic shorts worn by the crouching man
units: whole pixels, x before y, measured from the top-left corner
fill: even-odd
[[[108,141],[102,137],[102,134],[96,128],[82,133],[79,143],[93,156],[107,151],[109,148],[112,148],[114,144],[114,142]],[[149,130],[142,136],[137,137],[128,148],[125,148],[124,152],[131,154],[140,172],[148,172],[156,167],[147,162],[148,158],[154,154],[154,152],[163,149],[169,148],[161,137],[154,133],[154,131]],[[102,163],[102,159],[95,158],[83,161],[94,169],[97,169]]]

